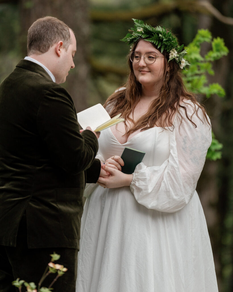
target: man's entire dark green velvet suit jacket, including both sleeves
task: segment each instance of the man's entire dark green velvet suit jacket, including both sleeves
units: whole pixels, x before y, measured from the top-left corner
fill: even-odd
[[[15,246],[27,215],[29,248],[79,248],[82,195],[100,161],[91,131],[79,132],[68,92],[20,60],[0,85],[0,244]]]

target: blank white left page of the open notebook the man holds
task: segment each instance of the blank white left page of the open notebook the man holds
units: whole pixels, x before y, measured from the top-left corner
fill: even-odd
[[[110,115],[107,113],[105,108],[98,103],[88,109],[84,109],[82,112],[77,113],[78,123],[83,129],[88,126],[94,131],[98,126],[110,120]]]

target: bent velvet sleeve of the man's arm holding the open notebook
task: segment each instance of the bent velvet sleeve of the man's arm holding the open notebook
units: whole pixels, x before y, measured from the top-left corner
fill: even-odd
[[[40,102],[37,128],[49,155],[57,166],[77,174],[91,166],[98,141],[89,130],[79,131],[77,115],[68,92],[54,84]]]

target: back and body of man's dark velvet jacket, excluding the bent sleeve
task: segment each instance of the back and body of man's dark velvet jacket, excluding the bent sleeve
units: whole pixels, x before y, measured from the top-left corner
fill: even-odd
[[[66,201],[66,207],[70,204],[70,210],[75,210],[74,220],[78,213],[82,214],[82,192],[78,190],[84,187],[84,173],[72,175],[59,167],[42,135],[43,127],[50,127],[49,119],[41,123],[45,117],[42,107],[49,92],[55,90],[58,96],[64,92],[64,103],[74,108],[65,89],[54,83],[43,68],[27,60],[21,60],[0,85],[0,244],[15,244],[18,223],[26,210],[31,230],[29,246],[54,246],[57,242],[61,246],[77,246],[79,234],[74,230],[78,232],[79,223],[71,230],[65,223],[61,230],[62,216],[68,214],[61,210]],[[65,155],[60,155],[62,161]],[[73,220],[72,215],[68,216],[67,223]],[[51,236],[45,243],[40,234],[47,221],[51,223],[47,225]],[[59,234],[63,232],[73,239],[61,239]]]

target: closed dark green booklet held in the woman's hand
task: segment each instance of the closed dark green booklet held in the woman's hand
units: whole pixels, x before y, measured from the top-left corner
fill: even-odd
[[[124,166],[121,167],[121,171],[126,174],[134,172],[136,166],[142,162],[145,152],[130,147],[125,147],[121,158],[124,161]]]

